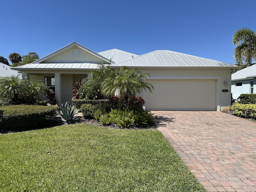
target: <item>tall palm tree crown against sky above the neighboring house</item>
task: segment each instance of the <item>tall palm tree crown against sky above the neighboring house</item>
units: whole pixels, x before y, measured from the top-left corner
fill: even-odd
[[[232,43],[236,46],[234,50],[236,65],[251,66],[252,60],[256,60],[256,33],[249,28],[241,28],[235,32]]]

